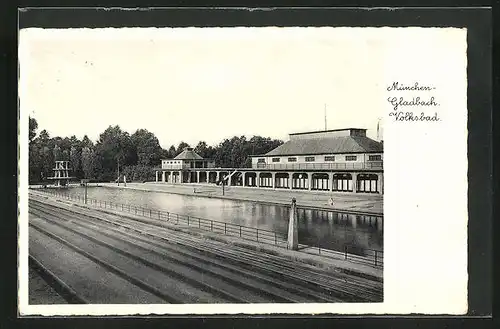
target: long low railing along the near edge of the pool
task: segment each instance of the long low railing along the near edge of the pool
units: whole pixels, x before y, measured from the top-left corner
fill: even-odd
[[[60,197],[66,200],[85,203],[85,196],[60,193],[57,192],[56,190],[51,190],[51,189],[43,189],[42,191],[44,193],[48,193],[53,196]],[[164,210],[150,209],[137,205],[123,204],[106,200],[103,201],[98,199],[87,198],[87,204],[104,209],[128,212],[130,214],[134,214],[137,216],[147,217],[158,221],[165,221],[170,224],[182,225],[187,227],[196,227],[204,231],[211,231],[218,234],[238,237],[244,240],[250,240],[259,243],[265,243],[269,245],[288,248],[287,235],[276,231],[270,231],[249,226],[242,226],[233,223],[220,222],[212,219],[182,215]],[[383,251],[380,250],[364,249],[369,253],[369,255],[363,257],[363,256],[358,256],[354,253],[350,253],[349,250],[353,250],[354,248],[349,245],[344,246],[343,253],[322,248],[319,245],[319,243],[316,246],[309,246],[309,247],[310,247],[309,250],[317,251],[319,255],[324,255],[324,256],[331,255],[335,256],[335,258],[339,258],[340,254],[342,254],[341,256],[345,260],[349,260],[352,262],[366,263],[367,259],[369,259],[369,262],[373,263],[375,266],[383,266]]]

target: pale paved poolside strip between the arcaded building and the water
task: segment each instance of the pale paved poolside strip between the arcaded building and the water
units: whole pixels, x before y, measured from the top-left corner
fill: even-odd
[[[315,191],[272,190],[250,187],[226,186],[224,195],[222,187],[213,184],[168,184],[168,183],[127,183],[117,186],[116,183],[100,183],[101,186],[128,188],[143,191],[157,191],[194,195],[212,198],[254,201],[271,204],[290,204],[292,198],[297,199],[299,207],[320,208],[345,212],[359,212],[369,215],[383,215],[383,196],[379,194],[329,193]],[[328,201],[333,198],[334,204]]]

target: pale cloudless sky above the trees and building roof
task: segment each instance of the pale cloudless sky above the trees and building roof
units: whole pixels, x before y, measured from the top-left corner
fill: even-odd
[[[327,129],[376,139],[397,46],[374,28],[25,29],[20,110],[52,137],[96,141],[119,125],[153,132],[163,148],[287,140],[324,130],[325,112]]]

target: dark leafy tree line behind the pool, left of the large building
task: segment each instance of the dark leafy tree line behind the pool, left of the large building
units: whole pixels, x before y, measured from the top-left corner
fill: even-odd
[[[185,142],[163,149],[158,138],[146,130],[133,134],[118,125],[109,126],[94,143],[87,135],[79,140],[76,136],[51,137],[46,130],[38,131],[35,118],[29,118],[29,182],[40,184],[53,176],[55,161],[70,161],[71,176],[91,181],[113,181],[126,175],[128,181],[148,181],[155,178],[154,168],[161,159],[171,159],[190,147]],[[200,141],[194,150],[203,158],[215,160],[217,167],[250,167],[249,155],[264,154],[283,141],[269,137],[234,136],[215,146]]]

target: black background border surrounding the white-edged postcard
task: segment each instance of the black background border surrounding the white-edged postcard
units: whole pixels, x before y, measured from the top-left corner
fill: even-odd
[[[111,5],[107,5],[111,6]],[[123,6],[123,5],[122,5]],[[2,14],[3,25],[8,27],[8,48],[2,50],[2,66],[8,80],[5,88],[6,100],[9,103],[7,114],[9,120],[3,121],[2,134],[5,148],[12,154],[11,159],[17,159],[17,19],[19,28],[46,27],[185,27],[185,26],[424,26],[424,27],[466,27],[468,29],[467,75],[468,75],[468,271],[469,271],[469,314],[468,317],[451,319],[447,316],[426,317],[418,319],[418,314],[405,316],[403,319],[388,319],[387,316],[361,316],[361,321],[369,320],[370,325],[399,327],[414,327],[421,325],[454,324],[467,325],[474,316],[488,317],[492,313],[492,10],[483,8],[398,8],[398,9],[360,9],[360,8],[275,8],[248,10],[245,8],[155,8],[143,10],[95,9],[95,8],[32,8],[7,15]],[[137,5],[129,5],[137,7]],[[17,16],[19,15],[19,16]],[[3,26],[0,26],[3,27]],[[5,30],[4,30],[5,31]],[[0,32],[2,37],[6,32]],[[3,65],[5,62],[6,65]],[[3,81],[2,81],[3,82]],[[498,79],[495,80],[498,87]],[[452,141],[450,141],[452,142]],[[359,316],[158,316],[158,317],[73,317],[67,318],[17,318],[17,162],[4,162],[2,174],[6,178],[2,189],[1,202],[7,205],[4,212],[2,227],[2,250],[8,266],[4,266],[1,278],[3,303],[2,320],[8,320],[8,327],[63,327],[76,326],[97,327],[123,325],[162,325],[172,324],[166,318],[177,318],[175,326],[214,325],[214,327],[247,326],[245,318],[252,318],[253,326],[280,327],[288,320],[282,318],[297,318],[295,325],[326,327],[332,325],[353,325],[353,320]],[[15,191],[13,193],[13,191]],[[7,220],[8,219],[8,220]],[[213,321],[213,318],[217,320]],[[231,320],[229,323],[225,320]],[[228,319],[230,318],[230,319]],[[270,319],[271,318],[271,319]],[[371,318],[371,319],[370,319]],[[174,319],[172,319],[174,320]],[[283,322],[285,321],[285,322]],[[404,322],[401,322],[404,321]],[[431,321],[431,322],[429,322]],[[288,322],[289,323],[289,322]],[[358,322],[359,323],[359,322]],[[399,323],[399,324],[398,324]],[[470,322],[469,322],[470,323]]]

